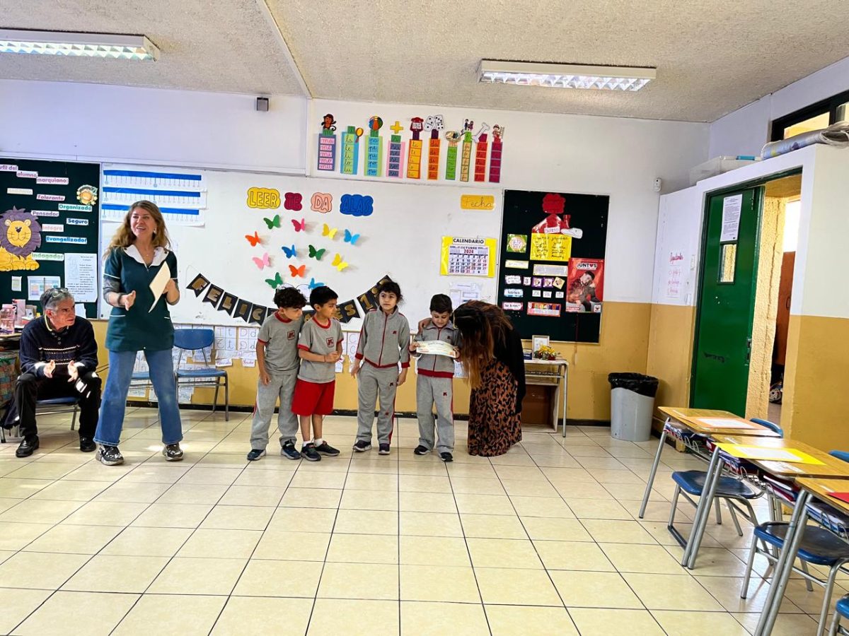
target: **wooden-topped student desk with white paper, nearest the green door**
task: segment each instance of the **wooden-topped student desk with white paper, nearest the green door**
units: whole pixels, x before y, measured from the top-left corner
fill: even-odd
[[[645,486],[643,503],[639,509],[640,519],[644,517],[645,507],[649,504],[651,488],[655,483],[657,466],[661,463],[661,455],[663,454],[667,436],[672,435],[672,437],[683,441],[694,455],[705,461],[710,461],[711,458],[703,449],[700,449],[698,444],[692,442],[691,438],[694,436],[711,438],[717,433],[733,433],[735,435],[745,435],[755,438],[780,437],[779,433],[755,422],[744,420],[741,417],[735,416],[734,413],[729,413],[727,410],[684,409],[672,406],[661,406],[658,410],[666,416],[666,421],[663,424],[660,444],[657,444],[655,461],[649,472],[649,482]]]

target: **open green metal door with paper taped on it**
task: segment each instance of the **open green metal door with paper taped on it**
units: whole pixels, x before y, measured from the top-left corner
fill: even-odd
[[[763,188],[709,199],[692,405],[745,415]]]

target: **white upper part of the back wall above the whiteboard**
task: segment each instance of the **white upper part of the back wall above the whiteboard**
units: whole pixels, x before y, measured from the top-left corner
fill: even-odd
[[[706,124],[281,96],[257,113],[250,95],[66,82],[0,81],[0,94],[0,121],[14,122],[0,126],[0,153],[292,175],[312,171],[326,112],[340,130],[367,127],[375,113],[386,126],[436,113],[448,128],[466,117],[498,123],[506,126],[499,187],[610,195],[605,299],[621,302],[651,300],[655,177],[666,191],[685,187],[689,169],[707,159]]]

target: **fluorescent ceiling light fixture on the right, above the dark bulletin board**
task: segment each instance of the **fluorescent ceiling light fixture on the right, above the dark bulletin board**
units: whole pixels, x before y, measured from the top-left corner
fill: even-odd
[[[638,91],[654,80],[655,76],[656,70],[651,68],[499,62],[495,59],[481,59],[481,65],[478,67],[478,81],[550,88]]]

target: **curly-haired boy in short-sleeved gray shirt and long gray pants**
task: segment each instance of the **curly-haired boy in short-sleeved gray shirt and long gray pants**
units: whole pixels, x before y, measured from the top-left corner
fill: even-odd
[[[250,453],[248,460],[258,460],[266,453],[268,428],[274,415],[274,405],[280,399],[277,427],[280,432],[280,455],[300,460],[295,449],[298,417],[292,413],[292,393],[301,360],[298,357],[298,336],[304,324],[306,298],[294,287],[274,293],[278,310],[269,315],[260,327],[256,340],[256,382],[254,418],[250,423]]]

